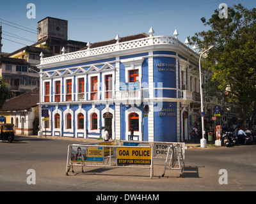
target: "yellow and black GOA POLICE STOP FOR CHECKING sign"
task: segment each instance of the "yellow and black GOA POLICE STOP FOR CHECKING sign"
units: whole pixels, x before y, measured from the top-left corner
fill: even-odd
[[[150,147],[118,147],[118,164],[151,164]]]

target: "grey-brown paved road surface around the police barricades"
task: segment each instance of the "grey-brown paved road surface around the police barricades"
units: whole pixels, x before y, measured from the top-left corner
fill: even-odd
[[[81,143],[59,138],[18,136],[18,142],[0,143],[0,191],[255,191],[256,145],[230,148],[189,148],[184,178],[179,170],[154,166],[134,168],[75,168],[66,175],[67,147]],[[157,159],[155,164],[164,163]],[[27,184],[29,169],[35,170],[36,184]],[[220,185],[221,169],[227,170],[228,184]],[[160,177],[159,177],[160,176]]]

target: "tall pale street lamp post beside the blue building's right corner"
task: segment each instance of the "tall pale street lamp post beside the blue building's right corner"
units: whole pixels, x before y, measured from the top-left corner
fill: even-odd
[[[201,58],[202,55],[205,54],[205,52],[208,52],[213,48],[214,46],[211,46],[207,50],[205,50],[202,54],[200,54],[199,58],[199,75],[200,75],[200,98],[201,98],[201,119],[202,119],[202,139],[200,141],[201,147],[206,147],[206,140],[205,140],[205,131],[204,131],[204,105],[203,105],[203,92],[202,92],[202,71],[201,71]]]

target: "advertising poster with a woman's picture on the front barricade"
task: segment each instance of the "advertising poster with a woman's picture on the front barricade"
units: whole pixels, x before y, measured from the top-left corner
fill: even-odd
[[[104,147],[71,147],[72,163],[103,163]]]

